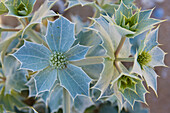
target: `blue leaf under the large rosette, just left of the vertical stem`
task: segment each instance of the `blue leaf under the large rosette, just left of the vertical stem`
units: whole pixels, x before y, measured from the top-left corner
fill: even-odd
[[[47,105],[49,106],[51,112],[57,112],[59,108],[62,107],[63,100],[63,88],[56,84],[54,88],[50,91],[47,99]]]

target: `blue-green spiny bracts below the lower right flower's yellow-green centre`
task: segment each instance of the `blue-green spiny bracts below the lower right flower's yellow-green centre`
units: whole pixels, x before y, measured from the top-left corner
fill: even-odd
[[[146,103],[145,94],[147,93],[147,90],[143,86],[141,80],[136,80],[136,82],[136,92],[130,89],[125,89],[124,92],[121,92],[132,107],[134,106],[135,101]]]

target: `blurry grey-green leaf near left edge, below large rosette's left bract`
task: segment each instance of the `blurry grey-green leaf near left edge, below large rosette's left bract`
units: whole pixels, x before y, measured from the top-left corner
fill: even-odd
[[[13,56],[5,57],[5,94],[10,94],[12,89],[18,92],[27,89],[25,83],[27,82],[26,74],[28,72],[22,69],[18,70],[19,65],[19,62]]]

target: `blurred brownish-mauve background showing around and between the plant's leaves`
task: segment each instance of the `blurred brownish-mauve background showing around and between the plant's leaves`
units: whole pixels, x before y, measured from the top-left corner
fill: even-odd
[[[37,0],[34,10],[36,10],[44,0]],[[92,0],[89,0],[92,1]],[[56,3],[53,10],[63,14],[65,17],[71,20],[72,15],[79,15],[81,19],[86,22],[89,21],[87,17],[92,17],[94,11],[91,7],[76,6],[67,11],[64,11],[64,0],[59,0]],[[159,43],[160,47],[166,52],[170,53],[170,0],[136,0],[136,5],[142,9],[154,8],[152,17],[157,19],[166,19],[167,21],[162,23],[159,31]],[[12,19],[12,21],[11,21]],[[13,17],[0,16],[0,23],[6,26],[17,26],[18,21]],[[170,54],[165,57],[165,63],[170,66]],[[158,78],[158,97],[154,94],[153,90],[149,90],[150,94],[146,94],[146,100],[150,113],[170,113],[170,69],[164,67],[156,68]]]

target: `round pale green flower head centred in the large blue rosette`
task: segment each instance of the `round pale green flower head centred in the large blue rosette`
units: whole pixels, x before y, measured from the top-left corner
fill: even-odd
[[[50,56],[50,65],[56,69],[64,69],[67,67],[67,58],[60,52],[54,52]]]

